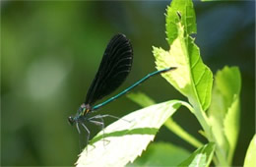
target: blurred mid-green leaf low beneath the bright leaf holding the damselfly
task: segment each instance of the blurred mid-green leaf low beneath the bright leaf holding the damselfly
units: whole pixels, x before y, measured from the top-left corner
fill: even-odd
[[[128,166],[176,166],[189,157],[190,152],[171,143],[157,142]]]

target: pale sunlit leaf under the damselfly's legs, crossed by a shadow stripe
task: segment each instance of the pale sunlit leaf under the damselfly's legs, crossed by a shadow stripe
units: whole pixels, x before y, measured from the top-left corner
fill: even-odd
[[[171,100],[124,116],[106,127],[104,135],[96,135],[81,153],[77,165],[113,167],[133,162],[179,106],[180,101]]]

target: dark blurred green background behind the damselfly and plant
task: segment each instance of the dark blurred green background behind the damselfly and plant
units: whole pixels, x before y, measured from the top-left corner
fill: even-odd
[[[168,4],[1,1],[1,165],[73,165],[79,136],[67,117],[83,103],[107,42],[122,32],[133,44],[133,69],[121,90],[156,70],[152,46],[168,48],[163,15]],[[255,132],[255,2],[197,1],[195,9],[204,62],[214,73],[229,65],[242,74],[241,130],[233,160],[242,165]],[[139,90],[157,102],[186,100],[160,76],[134,91]],[[139,108],[124,96],[99,112],[124,116]],[[185,108],[174,120],[206,141]],[[156,140],[195,149],[164,127]]]

